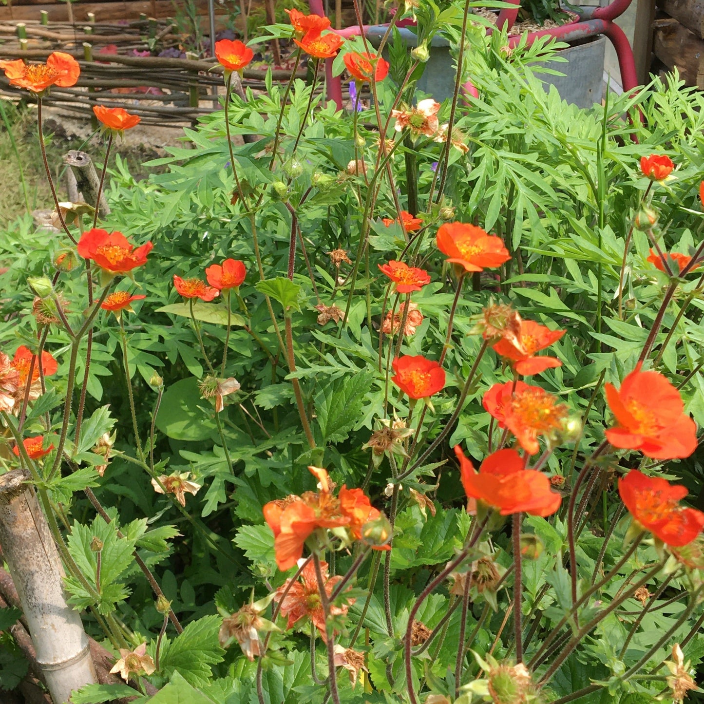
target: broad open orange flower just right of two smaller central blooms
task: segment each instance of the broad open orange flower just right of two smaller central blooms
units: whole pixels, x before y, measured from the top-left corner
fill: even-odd
[[[439,227],[435,239],[448,262],[459,264],[465,271],[496,269],[511,258],[501,237],[487,234],[476,225],[446,222]]]

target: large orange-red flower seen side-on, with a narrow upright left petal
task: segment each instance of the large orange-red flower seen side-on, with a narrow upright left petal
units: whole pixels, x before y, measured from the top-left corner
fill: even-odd
[[[525,469],[525,460],[513,449],[498,450],[487,457],[479,472],[459,445],[460,478],[467,498],[497,510],[502,516],[529,513],[549,516],[560,508],[562,497],[552,491],[550,479],[537,470]]]

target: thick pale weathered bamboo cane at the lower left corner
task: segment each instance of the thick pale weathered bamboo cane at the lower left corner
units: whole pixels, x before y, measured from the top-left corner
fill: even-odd
[[[66,603],[63,568],[29,474],[0,477],[0,544],[27,619],[37,664],[54,704],[96,682],[88,637],[80,616]]]

